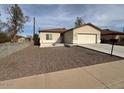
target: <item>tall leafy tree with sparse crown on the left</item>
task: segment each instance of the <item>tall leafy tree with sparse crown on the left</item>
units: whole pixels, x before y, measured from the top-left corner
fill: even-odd
[[[23,32],[24,24],[28,21],[28,17],[24,16],[22,9],[17,5],[11,5],[7,7],[8,18],[8,32],[11,38],[11,42],[16,41],[16,34]]]

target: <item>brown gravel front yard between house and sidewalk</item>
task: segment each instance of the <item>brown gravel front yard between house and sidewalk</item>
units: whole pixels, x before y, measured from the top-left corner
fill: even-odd
[[[0,59],[0,80],[26,77],[121,59],[80,47],[38,48],[30,46]]]

